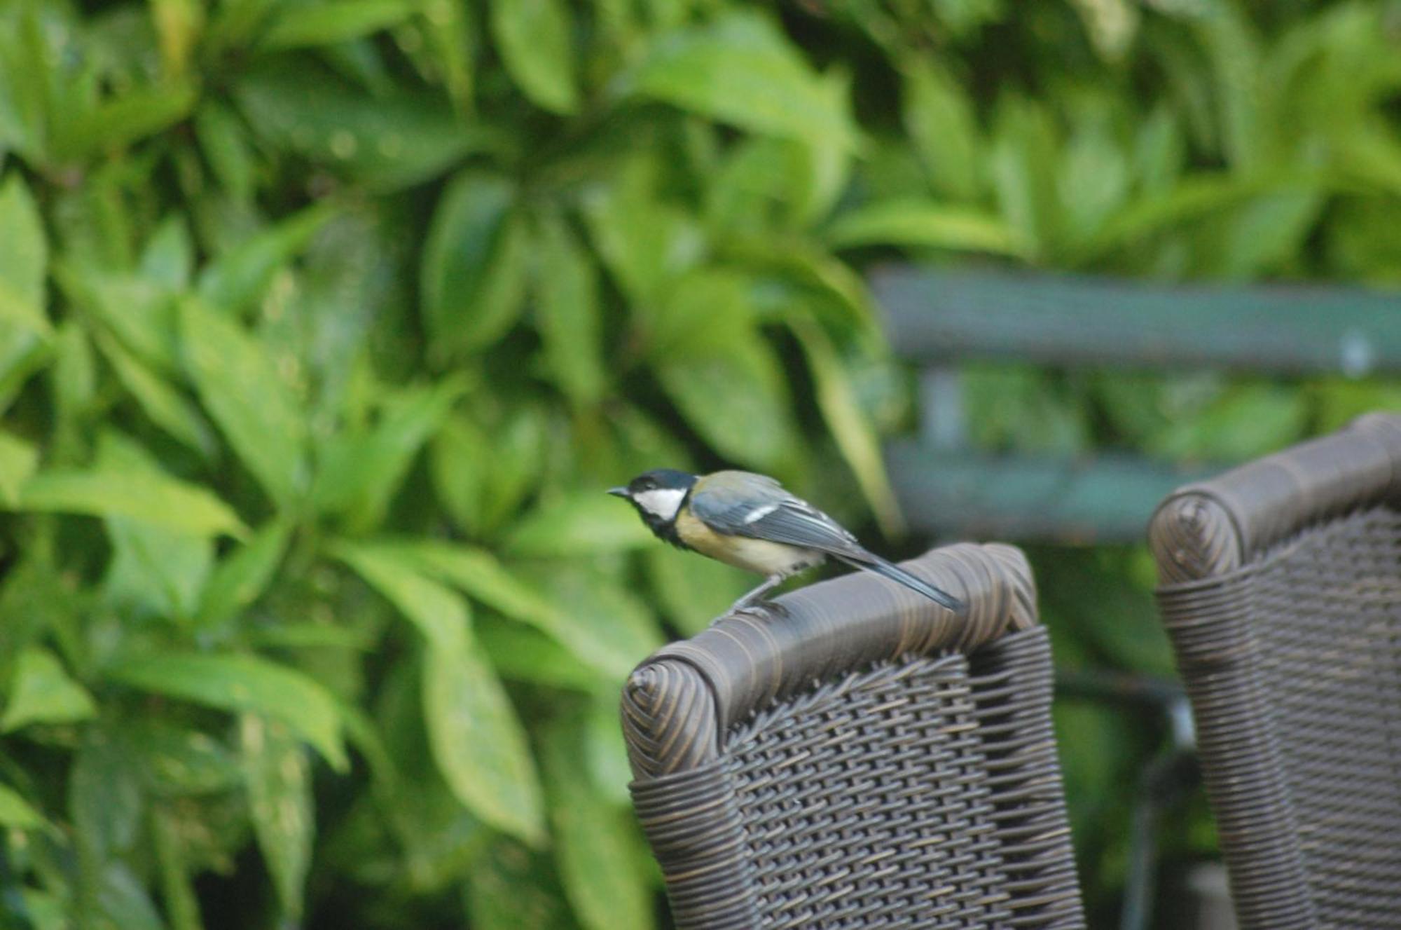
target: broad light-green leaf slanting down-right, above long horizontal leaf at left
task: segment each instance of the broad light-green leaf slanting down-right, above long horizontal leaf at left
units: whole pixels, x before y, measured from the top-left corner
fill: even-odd
[[[307,485],[305,420],[268,347],[199,301],[181,304],[181,340],[199,399],[280,507]]]

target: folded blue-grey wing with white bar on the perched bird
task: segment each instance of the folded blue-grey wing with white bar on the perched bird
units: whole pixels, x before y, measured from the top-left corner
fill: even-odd
[[[745,478],[750,478],[745,475]],[[708,482],[691,496],[691,513],[716,532],[804,546],[834,555],[866,555],[856,536],[772,478]]]

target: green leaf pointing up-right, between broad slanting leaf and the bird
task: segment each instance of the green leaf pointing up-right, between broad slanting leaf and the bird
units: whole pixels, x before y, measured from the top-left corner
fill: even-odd
[[[318,510],[343,513],[352,528],[378,525],[423,443],[467,391],[461,377],[394,394],[367,433],[342,433],[326,445],[312,496]]]

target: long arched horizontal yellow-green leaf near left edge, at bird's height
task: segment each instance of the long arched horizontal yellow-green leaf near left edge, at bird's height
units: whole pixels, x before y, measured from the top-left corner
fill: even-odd
[[[20,511],[130,517],[199,535],[242,536],[238,515],[207,487],[158,472],[48,469],[27,480]]]

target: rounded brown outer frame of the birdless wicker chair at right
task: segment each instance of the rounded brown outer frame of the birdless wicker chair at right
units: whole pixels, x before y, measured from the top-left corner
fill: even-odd
[[[1149,543],[1163,622],[1196,717],[1208,798],[1243,930],[1318,926],[1299,835],[1259,688],[1250,580],[1275,546],[1383,504],[1401,503],[1401,416],[1369,415],[1173,493]]]

